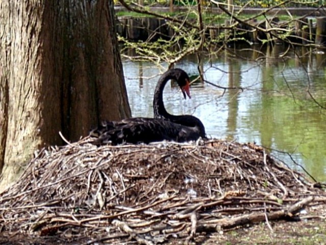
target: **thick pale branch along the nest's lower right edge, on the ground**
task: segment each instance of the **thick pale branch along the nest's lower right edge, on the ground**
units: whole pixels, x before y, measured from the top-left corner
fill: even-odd
[[[313,201],[313,197],[306,198],[302,201],[299,201],[287,209],[270,212],[267,214],[269,220],[281,219],[288,216],[293,216],[295,213],[303,209],[309,203]],[[198,232],[214,232],[219,231],[219,229],[230,229],[236,226],[243,226],[246,224],[255,224],[265,220],[265,213],[254,213],[254,214],[246,214],[236,218],[221,218],[217,219],[214,225],[200,225],[197,227]]]

